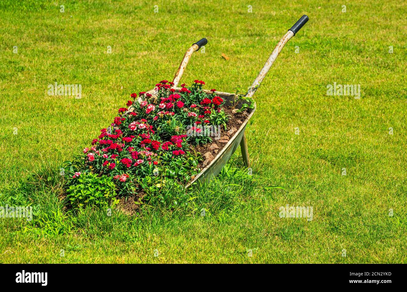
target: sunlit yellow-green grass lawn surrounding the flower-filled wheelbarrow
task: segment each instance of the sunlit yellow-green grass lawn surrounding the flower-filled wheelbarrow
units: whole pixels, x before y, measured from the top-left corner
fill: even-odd
[[[0,262],[407,263],[407,4],[326,2],[2,0],[0,205],[31,205],[62,234],[0,218]],[[255,95],[251,176],[238,150],[188,207],[65,213],[60,163],[132,92],[171,80],[202,37],[182,81],[247,88],[303,14]],[[49,96],[55,82],[81,84],[81,98]],[[327,95],[334,82],[360,84],[361,98]],[[313,220],[280,218],[287,204],[312,206]]]

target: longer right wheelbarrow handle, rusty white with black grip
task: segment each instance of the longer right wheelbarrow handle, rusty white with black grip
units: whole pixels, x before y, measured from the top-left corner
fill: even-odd
[[[260,73],[257,75],[256,79],[254,79],[252,86],[247,91],[247,97],[252,97],[254,95],[258,86],[262,83],[264,77],[266,76],[267,72],[269,72],[271,66],[274,64],[274,61],[276,61],[278,54],[280,54],[282,48],[284,48],[285,44],[287,44],[291,37],[298,33],[298,31],[302,28],[302,26],[304,26],[304,24],[306,24],[308,20],[308,16],[302,15],[302,17],[297,22],[295,22],[295,24],[287,31],[284,37],[280,39],[277,46],[271,53],[269,59],[267,59],[263,68],[260,70]]]

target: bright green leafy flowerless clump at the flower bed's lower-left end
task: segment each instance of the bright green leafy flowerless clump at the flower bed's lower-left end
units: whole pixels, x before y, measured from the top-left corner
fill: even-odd
[[[85,204],[96,207],[114,206],[117,203],[115,198],[115,185],[111,177],[96,174],[83,173],[71,185],[66,196],[74,208],[81,208]]]

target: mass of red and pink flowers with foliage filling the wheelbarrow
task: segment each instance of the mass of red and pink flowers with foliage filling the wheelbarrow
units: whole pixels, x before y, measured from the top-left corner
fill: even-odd
[[[212,141],[211,137],[188,135],[220,122],[226,127],[225,101],[203,91],[204,81],[195,80],[176,92],[172,82],[160,81],[155,94],[131,94],[127,108],[118,109],[112,124],[101,129],[92,145],[83,149],[74,167],[70,167],[69,184],[75,185],[81,172],[111,177],[119,195],[141,191],[158,191],[165,179],[185,183],[199,172],[199,153],[192,145]],[[146,179],[147,178],[147,179]]]

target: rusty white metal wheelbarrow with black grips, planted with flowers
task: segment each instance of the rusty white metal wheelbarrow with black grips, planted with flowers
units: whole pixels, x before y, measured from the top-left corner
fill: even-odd
[[[263,81],[264,77],[266,76],[267,72],[269,72],[271,65],[273,65],[274,61],[276,61],[278,54],[280,54],[282,48],[284,48],[285,44],[293,37],[301,28],[306,24],[306,22],[309,20],[308,16],[302,15],[302,17],[295,22],[295,24],[288,30],[288,32],[280,39],[278,42],[277,46],[274,48],[273,52],[271,53],[269,59],[267,59],[265,65],[263,68],[260,70],[260,73],[257,75],[256,79],[254,79],[254,82],[252,86],[249,88],[247,91],[247,94],[245,94],[246,98],[252,98],[254,96],[254,93],[256,92],[258,86],[261,84]],[[184,74],[186,65],[188,65],[189,60],[191,59],[191,56],[193,52],[197,52],[202,46],[205,46],[208,43],[207,39],[201,39],[197,41],[195,44],[193,44],[185,53],[184,59],[182,59],[181,64],[179,65],[179,68],[177,72],[175,73],[173,83],[174,85],[172,86],[173,89],[175,89],[176,92],[179,92],[181,90],[181,87],[177,87],[179,81],[182,78],[182,75]],[[211,94],[212,92],[210,90],[204,89],[204,92]],[[153,96],[156,94],[155,89],[150,90],[148,93],[152,94]],[[225,106],[230,106],[236,102],[236,94],[234,93],[228,93],[228,92],[219,92],[216,91],[215,94],[217,96],[220,96],[225,100]],[[235,105],[236,108],[241,108],[243,102],[237,103]],[[254,111],[256,110],[256,102],[254,102],[253,108],[248,109],[249,115],[243,121],[243,124],[239,127],[239,129],[236,131],[236,133],[229,139],[229,142],[223,147],[222,150],[219,151],[216,157],[204,168],[197,174],[192,181],[190,181],[187,185],[186,188],[190,187],[193,185],[195,182],[200,181],[201,183],[210,180],[212,177],[215,177],[219,174],[219,172],[222,170],[222,168],[225,166],[225,164],[228,162],[236,148],[239,146],[241,147],[241,152],[243,156],[243,161],[245,163],[245,166],[247,168],[250,167],[250,160],[249,160],[249,151],[247,149],[247,141],[246,141],[246,135],[245,135],[245,129],[247,126],[247,122],[249,122],[250,118],[252,117]]]

